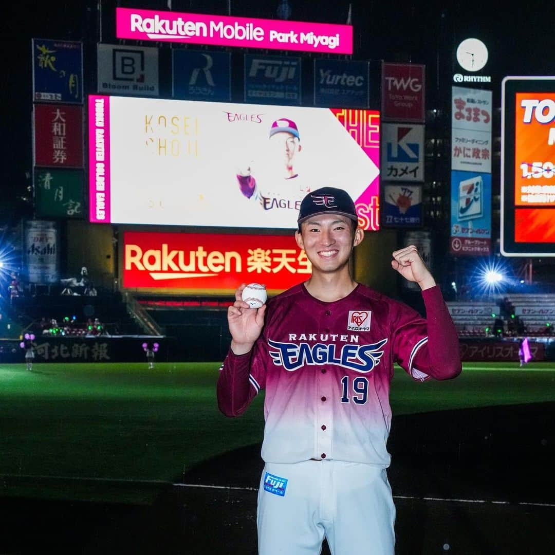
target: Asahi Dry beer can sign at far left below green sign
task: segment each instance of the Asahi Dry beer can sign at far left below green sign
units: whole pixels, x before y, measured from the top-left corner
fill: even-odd
[[[25,268],[30,283],[53,284],[58,275],[58,230],[53,221],[27,221],[24,231]]]

